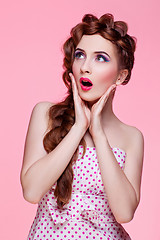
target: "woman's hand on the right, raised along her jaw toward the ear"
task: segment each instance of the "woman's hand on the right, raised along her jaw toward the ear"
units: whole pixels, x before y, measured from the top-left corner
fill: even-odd
[[[96,133],[103,132],[101,113],[109,98],[110,93],[115,90],[116,86],[116,84],[111,85],[91,108],[89,132],[93,138],[96,137]]]

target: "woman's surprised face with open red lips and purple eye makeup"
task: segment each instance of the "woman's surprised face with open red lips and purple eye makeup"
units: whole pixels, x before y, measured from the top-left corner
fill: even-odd
[[[116,47],[99,34],[83,35],[74,57],[72,72],[79,95],[95,102],[118,78]]]

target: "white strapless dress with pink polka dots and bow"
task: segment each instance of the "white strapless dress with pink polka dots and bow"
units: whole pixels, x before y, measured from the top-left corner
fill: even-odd
[[[112,148],[112,151],[123,169],[126,153],[119,148]],[[109,207],[96,149],[87,147],[84,157],[82,154],[83,146],[80,145],[78,159],[73,165],[70,202],[64,210],[58,209],[54,184],[38,204],[28,240],[131,240]]]

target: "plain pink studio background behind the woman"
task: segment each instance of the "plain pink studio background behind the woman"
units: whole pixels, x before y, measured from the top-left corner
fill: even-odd
[[[0,239],[27,239],[37,205],[23,199],[20,169],[29,118],[40,101],[61,100],[61,47],[85,13],[113,13],[138,39],[128,85],[120,86],[114,111],[145,138],[141,202],[124,224],[133,240],[159,240],[160,213],[160,15],[157,0],[2,1],[0,3]]]

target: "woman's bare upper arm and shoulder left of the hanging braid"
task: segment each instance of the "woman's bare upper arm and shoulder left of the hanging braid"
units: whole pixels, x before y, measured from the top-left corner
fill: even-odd
[[[43,138],[48,130],[48,110],[52,105],[51,102],[39,102],[33,107],[24,146],[22,177],[37,159],[46,155]]]

